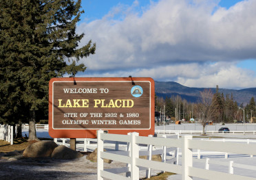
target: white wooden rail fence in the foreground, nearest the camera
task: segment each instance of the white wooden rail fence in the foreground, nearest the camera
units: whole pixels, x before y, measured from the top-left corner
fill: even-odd
[[[103,151],[105,140],[115,140],[120,142],[128,142],[131,146],[129,153],[120,153]],[[166,162],[154,162],[148,159],[139,158],[139,144],[147,144],[152,146],[168,146],[182,149],[182,166],[178,164],[169,164]],[[235,142],[213,142],[192,140],[192,136],[184,136],[182,139],[168,139],[168,138],[151,138],[141,137],[138,133],[131,133],[131,136],[115,135],[103,133],[98,131],[98,179],[139,179],[140,167],[155,170],[164,170],[167,172],[173,172],[182,175],[182,180],[193,179],[198,177],[202,179],[237,179],[237,180],[253,180],[253,177],[246,177],[242,175],[233,175],[233,167],[246,168],[255,170],[254,166],[248,166],[243,164],[235,164],[229,162],[230,170],[228,172],[219,172],[215,170],[209,170],[209,166],[203,168],[193,167],[193,161],[202,159],[193,159],[193,149],[200,149],[204,151],[217,151],[226,153],[237,153],[246,155],[256,155],[256,144],[243,144]],[[150,156],[150,155],[149,155]],[[127,167],[104,169],[103,158],[111,159],[117,162],[123,162],[128,164]],[[211,162],[211,161],[210,161]],[[216,163],[212,161],[213,163]],[[209,162],[208,162],[209,164]],[[122,172],[126,172],[126,176],[118,175]]]

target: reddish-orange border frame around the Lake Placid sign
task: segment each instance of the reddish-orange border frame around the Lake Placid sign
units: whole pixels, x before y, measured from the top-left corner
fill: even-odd
[[[149,83],[149,128],[134,128],[134,129],[111,129],[111,128],[90,128],[90,129],[73,129],[73,128],[55,128],[54,127],[54,83],[71,82],[76,83],[114,83],[125,82],[137,85],[140,82]],[[135,86],[133,85],[133,86]],[[84,95],[85,97],[87,94]],[[107,131],[107,133],[127,134],[129,132],[138,132],[140,136],[153,135],[155,132],[155,82],[150,77],[55,77],[49,82],[49,134],[52,138],[96,138],[97,130]]]

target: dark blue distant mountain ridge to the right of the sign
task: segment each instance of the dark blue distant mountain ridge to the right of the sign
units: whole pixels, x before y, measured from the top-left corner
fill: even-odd
[[[189,88],[173,81],[155,81],[155,91],[158,97],[166,98],[179,95],[182,99],[186,99],[186,101],[192,103],[198,101],[200,92],[204,89],[210,89],[213,93],[216,92],[216,88]],[[223,92],[224,97],[226,97],[226,94],[233,94],[235,101],[237,101],[238,104],[244,103],[244,105],[249,103],[252,97],[256,98],[256,88],[246,88],[242,90],[219,88],[219,92]]]

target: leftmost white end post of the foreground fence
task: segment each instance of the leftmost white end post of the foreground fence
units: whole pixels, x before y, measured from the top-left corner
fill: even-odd
[[[97,131],[97,138],[98,138],[98,145],[97,145],[97,179],[103,180],[103,177],[100,176],[100,171],[104,170],[103,166],[103,158],[100,157],[100,153],[103,152],[104,149],[104,142],[101,140],[101,135],[104,133],[103,130]]]

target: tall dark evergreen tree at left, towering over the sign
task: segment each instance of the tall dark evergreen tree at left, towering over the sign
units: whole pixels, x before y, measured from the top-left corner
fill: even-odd
[[[35,111],[47,109],[49,80],[84,71],[76,64],[96,44],[78,47],[81,0],[2,0],[0,10],[1,120],[30,116],[29,139],[35,140]]]

